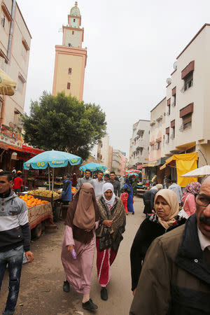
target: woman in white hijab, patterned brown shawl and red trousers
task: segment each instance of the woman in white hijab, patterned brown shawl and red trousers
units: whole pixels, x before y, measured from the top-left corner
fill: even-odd
[[[125,232],[125,208],[122,200],[113,192],[113,185],[105,183],[102,197],[97,199],[99,207],[99,228],[97,234],[97,275],[102,300],[108,299],[106,286],[111,276],[111,265],[116,258],[120,241]]]

